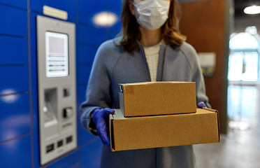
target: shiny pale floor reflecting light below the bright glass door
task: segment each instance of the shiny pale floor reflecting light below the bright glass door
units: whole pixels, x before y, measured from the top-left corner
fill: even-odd
[[[194,146],[197,168],[260,167],[260,87],[229,86],[228,94],[228,134]]]

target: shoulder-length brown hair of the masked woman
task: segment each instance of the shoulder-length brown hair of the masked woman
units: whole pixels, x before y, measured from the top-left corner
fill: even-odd
[[[133,53],[134,50],[139,50],[137,41],[140,41],[141,34],[138,29],[136,17],[131,14],[129,9],[128,1],[129,0],[122,0],[122,39],[120,44],[122,45],[123,50]],[[172,0],[168,13],[168,20],[166,20],[161,27],[161,38],[173,49],[180,47],[186,39],[186,37],[178,31],[180,15],[180,4],[177,0]]]

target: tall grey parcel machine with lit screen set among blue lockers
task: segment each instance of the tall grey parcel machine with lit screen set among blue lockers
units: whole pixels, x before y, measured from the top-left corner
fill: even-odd
[[[77,148],[75,25],[37,16],[41,165]]]

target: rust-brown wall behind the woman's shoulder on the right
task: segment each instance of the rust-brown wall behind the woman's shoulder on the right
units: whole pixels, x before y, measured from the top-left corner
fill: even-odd
[[[229,46],[229,4],[226,0],[182,1],[180,31],[197,52],[217,54],[215,73],[205,78],[210,104],[220,115],[221,132],[226,133],[227,65]]]

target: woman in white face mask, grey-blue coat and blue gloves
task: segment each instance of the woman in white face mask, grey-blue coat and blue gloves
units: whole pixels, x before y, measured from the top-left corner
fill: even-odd
[[[123,0],[122,36],[96,52],[80,117],[85,130],[106,145],[101,167],[194,167],[192,146],[112,153],[106,132],[108,115],[120,108],[119,83],[193,81],[197,103],[210,107],[196,51],[177,29],[178,8],[177,0]]]

